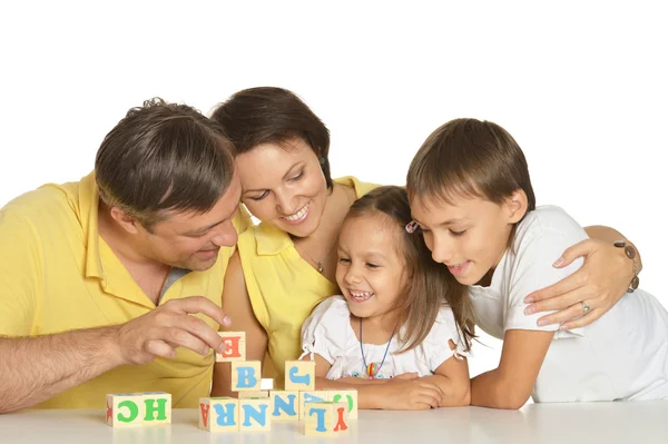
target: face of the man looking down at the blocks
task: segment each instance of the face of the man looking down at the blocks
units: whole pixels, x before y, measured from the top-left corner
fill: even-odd
[[[216,264],[220,247],[233,247],[237,233],[232,220],[236,215],[242,186],[235,172],[223,197],[207,213],[169,213],[153,226],[153,233],[141,230],[141,247],[146,256],[171,267],[195,272]]]

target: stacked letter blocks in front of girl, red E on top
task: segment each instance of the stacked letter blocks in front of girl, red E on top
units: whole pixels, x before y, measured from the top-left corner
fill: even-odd
[[[245,332],[219,333],[226,351],[216,362],[232,365],[234,397],[199,399],[199,427],[209,432],[269,430],[272,422],[304,420],[306,435],[338,435],[357,417],[357,391],[315,391],[315,362],[285,363],[285,389],[262,379],[259,361],[246,359]]]

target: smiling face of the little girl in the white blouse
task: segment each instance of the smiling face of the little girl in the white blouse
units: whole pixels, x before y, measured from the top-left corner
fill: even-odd
[[[336,283],[357,317],[393,310],[405,286],[399,228],[386,216],[346,219],[338,237]]]

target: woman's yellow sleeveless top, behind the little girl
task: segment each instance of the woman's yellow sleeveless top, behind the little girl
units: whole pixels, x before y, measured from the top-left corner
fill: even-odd
[[[354,187],[357,198],[377,187],[354,177],[335,181]],[[285,361],[302,354],[302,324],[338,287],[299,256],[287,233],[272,225],[249,227],[237,248],[253,312],[267,332],[275,385],[283,387]]]

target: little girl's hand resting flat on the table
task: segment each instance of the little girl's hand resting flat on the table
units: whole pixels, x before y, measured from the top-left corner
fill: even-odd
[[[423,382],[421,378],[390,379],[382,389],[381,408],[393,411],[424,411],[436,408],[443,397],[438,385]]]

